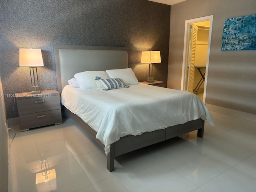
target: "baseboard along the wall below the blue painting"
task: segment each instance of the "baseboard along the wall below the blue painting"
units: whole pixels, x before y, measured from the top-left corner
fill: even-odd
[[[225,115],[241,118],[241,119],[252,121],[252,122],[256,122],[256,114],[246,113],[246,112],[229,109],[229,108],[225,108],[225,107],[221,107],[221,106],[216,106],[216,105],[212,105],[212,104],[208,104],[208,103],[206,103],[206,106],[208,107],[208,109],[210,111],[222,113]]]

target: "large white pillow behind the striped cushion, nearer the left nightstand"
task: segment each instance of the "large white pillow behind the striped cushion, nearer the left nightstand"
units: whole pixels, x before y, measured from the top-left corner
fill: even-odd
[[[96,76],[102,79],[109,78],[105,71],[84,71],[74,75],[82,90],[104,88],[101,82],[94,80]]]

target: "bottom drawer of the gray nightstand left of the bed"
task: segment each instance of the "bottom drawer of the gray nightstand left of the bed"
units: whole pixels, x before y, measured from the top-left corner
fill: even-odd
[[[21,130],[62,123],[60,109],[20,115],[19,118]]]

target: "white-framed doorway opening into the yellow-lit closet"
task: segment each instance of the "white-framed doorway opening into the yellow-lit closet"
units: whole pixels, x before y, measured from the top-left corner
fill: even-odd
[[[181,90],[205,103],[213,16],[186,20]]]

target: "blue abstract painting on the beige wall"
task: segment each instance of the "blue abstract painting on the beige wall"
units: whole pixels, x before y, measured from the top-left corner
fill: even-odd
[[[256,50],[256,15],[225,19],[221,50]]]

